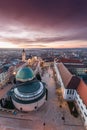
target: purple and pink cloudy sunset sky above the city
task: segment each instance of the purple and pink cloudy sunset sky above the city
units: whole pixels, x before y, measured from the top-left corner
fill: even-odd
[[[87,0],[0,0],[0,48],[87,48]]]

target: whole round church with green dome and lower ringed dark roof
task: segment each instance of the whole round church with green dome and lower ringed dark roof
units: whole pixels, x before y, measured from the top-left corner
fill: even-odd
[[[12,91],[12,102],[20,111],[33,111],[47,99],[46,85],[37,80],[32,69],[23,67],[16,74],[16,85]]]

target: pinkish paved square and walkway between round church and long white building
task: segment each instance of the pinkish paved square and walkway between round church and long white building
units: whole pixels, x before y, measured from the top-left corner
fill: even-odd
[[[52,69],[44,72],[42,80],[47,84],[48,101],[34,112],[13,115],[0,111],[0,130],[84,130],[80,117],[70,114],[60,89],[56,89]]]

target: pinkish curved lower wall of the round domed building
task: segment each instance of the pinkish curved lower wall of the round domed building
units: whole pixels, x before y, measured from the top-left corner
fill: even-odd
[[[22,109],[22,111],[26,111],[26,112],[33,111],[33,110],[37,110],[39,107],[41,107],[44,104],[44,102],[46,101],[46,94],[44,95],[44,97],[41,100],[39,100],[38,102],[35,102],[35,103],[31,103],[31,104],[21,104],[21,103],[16,102],[13,99],[12,99],[12,101],[13,101],[14,106],[18,110]]]

